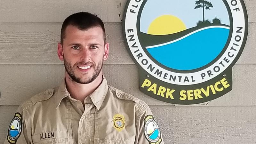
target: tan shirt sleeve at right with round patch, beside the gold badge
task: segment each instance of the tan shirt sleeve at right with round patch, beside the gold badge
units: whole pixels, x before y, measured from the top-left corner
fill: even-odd
[[[161,130],[149,107],[137,120],[135,144],[164,144]]]

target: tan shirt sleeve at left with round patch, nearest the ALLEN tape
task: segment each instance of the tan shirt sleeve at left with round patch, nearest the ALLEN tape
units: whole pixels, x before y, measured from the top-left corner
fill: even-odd
[[[30,144],[21,106],[12,118],[4,144]]]

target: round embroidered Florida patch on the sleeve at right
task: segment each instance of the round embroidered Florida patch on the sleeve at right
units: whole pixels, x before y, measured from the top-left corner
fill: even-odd
[[[147,115],[144,119],[144,134],[150,144],[162,142],[160,129],[152,115]]]

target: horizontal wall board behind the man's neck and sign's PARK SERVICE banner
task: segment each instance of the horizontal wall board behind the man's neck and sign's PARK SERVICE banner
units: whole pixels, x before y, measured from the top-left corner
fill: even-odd
[[[64,77],[64,67],[57,64],[0,65],[0,67],[0,105],[19,105],[39,92],[58,86]],[[255,71],[256,65],[235,65],[233,90],[212,100],[208,105],[255,106]],[[135,65],[104,65],[103,72],[108,84],[131,93],[148,105],[170,105],[139,91],[138,69]]]

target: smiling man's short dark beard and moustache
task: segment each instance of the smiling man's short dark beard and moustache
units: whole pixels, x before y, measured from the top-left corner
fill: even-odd
[[[63,57],[64,58],[64,57]],[[78,68],[78,65],[88,65],[91,64],[91,68],[94,69],[92,76],[83,79],[82,77],[78,77],[75,75],[75,70]],[[71,78],[71,80],[79,83],[79,84],[90,84],[92,83],[100,74],[100,71],[102,69],[102,65],[103,65],[103,58],[101,61],[99,61],[98,65],[96,65],[94,62],[79,62],[79,63],[75,63],[74,66],[72,67],[71,63],[69,63],[65,58],[64,58],[64,66],[65,69],[69,75],[69,77]],[[84,73],[83,76],[87,75],[87,73]]]

